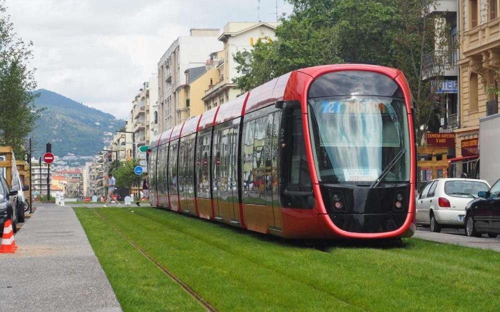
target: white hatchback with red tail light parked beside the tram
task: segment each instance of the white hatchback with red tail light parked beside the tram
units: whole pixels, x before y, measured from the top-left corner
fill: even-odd
[[[465,206],[488,191],[484,180],[447,178],[434,179],[425,185],[417,197],[417,224],[430,226],[431,232],[441,228],[463,228]]]

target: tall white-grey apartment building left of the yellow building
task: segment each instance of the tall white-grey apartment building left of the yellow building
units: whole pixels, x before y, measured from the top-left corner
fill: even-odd
[[[178,37],[158,62],[158,131],[185,121],[186,98],[182,86],[188,68],[205,64],[206,56],[221,50],[218,28],[193,28],[189,36]]]

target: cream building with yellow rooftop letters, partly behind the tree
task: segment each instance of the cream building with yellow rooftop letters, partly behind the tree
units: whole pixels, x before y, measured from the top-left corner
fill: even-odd
[[[233,55],[238,51],[250,51],[257,40],[274,40],[277,22],[229,22],[219,40],[224,43],[222,57],[217,60],[217,81],[211,85],[203,96],[205,109],[211,109],[235,99],[241,94],[233,83],[233,78],[241,73],[236,71],[237,64]]]

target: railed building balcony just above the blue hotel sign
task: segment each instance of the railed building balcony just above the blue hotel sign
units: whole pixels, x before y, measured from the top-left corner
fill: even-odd
[[[433,51],[427,53],[423,58],[424,75],[422,79],[435,76],[457,76],[456,65],[458,52],[455,51]]]

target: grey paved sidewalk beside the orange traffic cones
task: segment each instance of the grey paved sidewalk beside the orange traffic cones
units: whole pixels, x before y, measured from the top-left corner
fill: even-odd
[[[39,205],[0,254],[2,312],[121,312],[94,251],[69,206]]]

